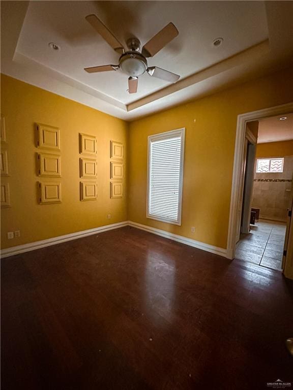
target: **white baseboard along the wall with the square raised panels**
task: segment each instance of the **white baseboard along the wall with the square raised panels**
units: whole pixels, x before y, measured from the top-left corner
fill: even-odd
[[[30,242],[28,244],[12,246],[11,248],[1,250],[1,257],[4,258],[19,253],[30,252],[31,250],[44,248],[46,246],[61,244],[62,242],[76,240],[78,238],[82,238],[86,236],[92,236],[94,234],[106,232],[108,230],[123,228],[124,226],[127,225],[128,225],[128,221],[112,223],[110,225],[100,226],[99,228],[66,234],[65,236],[52,237],[52,238],[48,238],[47,240],[35,241],[35,242]]]

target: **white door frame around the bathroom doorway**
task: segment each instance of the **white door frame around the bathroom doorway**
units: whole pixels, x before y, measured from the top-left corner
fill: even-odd
[[[231,201],[230,201],[230,215],[229,215],[229,227],[228,227],[228,240],[227,240],[227,257],[233,259],[235,257],[236,247],[236,228],[237,228],[237,209],[240,196],[240,181],[241,181],[241,167],[243,164],[243,148],[245,140],[245,127],[246,123],[251,120],[259,120],[261,118],[282,115],[293,111],[293,102],[283,104],[281,106],[275,106],[265,108],[263,110],[247,112],[245,114],[238,115],[237,117],[237,129],[234,151],[234,165],[233,165],[233,178],[231,189]]]

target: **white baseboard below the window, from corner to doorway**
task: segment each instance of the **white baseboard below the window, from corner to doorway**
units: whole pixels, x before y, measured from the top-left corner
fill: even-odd
[[[210,245],[210,244],[205,244],[204,242],[195,241],[195,240],[192,240],[191,238],[179,236],[177,234],[169,233],[169,232],[166,232],[164,230],[151,228],[151,226],[142,225],[141,223],[128,221],[128,224],[129,224],[129,226],[132,226],[133,228],[145,230],[146,232],[153,233],[153,234],[156,234],[158,236],[168,238],[170,240],[181,242],[182,244],[193,246],[194,248],[197,248],[197,249],[202,249],[202,250],[205,250],[207,252],[215,253],[215,254],[218,254],[220,256],[229,258],[228,254],[227,254],[227,249],[219,248],[217,246]]]

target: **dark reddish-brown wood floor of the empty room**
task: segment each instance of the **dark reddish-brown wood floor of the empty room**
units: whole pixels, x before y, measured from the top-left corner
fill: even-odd
[[[267,389],[292,336],[280,272],[133,228],[2,260],[4,390]]]

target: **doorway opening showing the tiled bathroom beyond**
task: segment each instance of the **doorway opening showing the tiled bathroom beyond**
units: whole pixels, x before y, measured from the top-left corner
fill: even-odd
[[[282,271],[293,177],[293,113],[248,121],[235,257]]]

